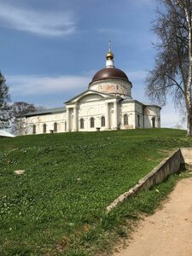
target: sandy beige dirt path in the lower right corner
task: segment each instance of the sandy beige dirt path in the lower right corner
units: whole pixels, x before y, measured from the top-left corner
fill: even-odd
[[[132,238],[113,256],[192,255],[192,177],[177,183],[162,209],[144,218]]]

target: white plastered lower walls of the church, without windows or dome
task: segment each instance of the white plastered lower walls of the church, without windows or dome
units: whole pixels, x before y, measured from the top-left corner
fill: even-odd
[[[124,124],[125,114],[128,116],[127,125]],[[105,118],[105,126],[102,126],[102,117]],[[90,127],[91,118],[94,119],[94,127]],[[84,128],[80,127],[80,119],[84,120]],[[36,134],[42,134],[44,124],[46,133],[55,132],[55,123],[57,132],[151,128],[153,124],[155,124],[154,127],[160,127],[160,108],[144,106],[137,101],[120,101],[118,96],[108,97],[91,93],[82,96],[77,102],[67,103],[67,111],[63,113],[49,113],[26,118],[25,133],[32,134],[32,126],[36,125]]]

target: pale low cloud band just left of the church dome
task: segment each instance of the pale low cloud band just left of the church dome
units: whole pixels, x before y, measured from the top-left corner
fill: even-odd
[[[74,89],[86,90],[90,82],[85,76],[7,76],[6,79],[12,96],[44,96]]]

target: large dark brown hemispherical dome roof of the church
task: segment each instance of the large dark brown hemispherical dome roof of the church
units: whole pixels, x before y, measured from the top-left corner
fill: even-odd
[[[129,81],[126,74],[116,67],[105,67],[99,70],[94,76],[91,82],[95,82],[103,79],[123,79]]]

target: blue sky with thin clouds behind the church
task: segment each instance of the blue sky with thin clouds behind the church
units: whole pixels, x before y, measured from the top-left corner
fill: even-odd
[[[156,8],[156,0],[0,0],[0,70],[12,102],[61,107],[105,67],[109,40],[133,98],[149,102],[144,80],[154,65]],[[169,99],[161,125],[180,119]]]

